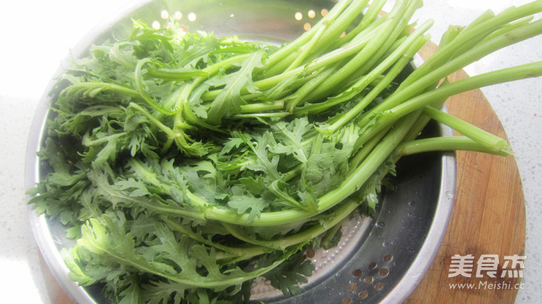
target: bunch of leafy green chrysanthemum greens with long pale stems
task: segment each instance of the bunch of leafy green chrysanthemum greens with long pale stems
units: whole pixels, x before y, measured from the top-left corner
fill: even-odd
[[[311,273],[302,249],[329,245],[359,206],[374,211],[402,155],[509,155],[440,108],[538,77],[542,62],[446,76],[540,35],[542,1],[451,27],[406,76],[432,22],[410,23],[421,0],[379,15],[385,2],[338,1],[280,47],[134,21],[126,39],[74,59],[30,200],[78,239],[65,252],[73,279],[122,303],[248,301],[258,276],[295,294]],[[462,135],[416,139],[429,120]]]

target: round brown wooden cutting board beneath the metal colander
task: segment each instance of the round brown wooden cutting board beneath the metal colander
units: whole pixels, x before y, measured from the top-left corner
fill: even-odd
[[[435,53],[435,44],[427,44],[420,55],[424,59]],[[459,71],[449,78],[468,77]],[[505,137],[505,131],[491,106],[480,90],[473,90],[451,97],[447,102],[449,113],[475,124],[482,129]],[[497,254],[499,271],[504,256],[525,251],[525,200],[513,156],[503,158],[484,153],[457,153],[457,187],[449,227],[440,250],[428,272],[406,303],[514,303],[520,279],[476,278],[476,262],[483,254]],[[472,277],[449,278],[451,258],[471,254]],[[73,304],[44,265],[49,277],[48,292],[54,304]],[[453,283],[501,283],[500,289],[452,289]],[[483,286],[483,285],[482,285]],[[486,287],[488,285],[485,285]],[[509,288],[508,288],[509,287]],[[363,303],[353,299],[352,303]]]

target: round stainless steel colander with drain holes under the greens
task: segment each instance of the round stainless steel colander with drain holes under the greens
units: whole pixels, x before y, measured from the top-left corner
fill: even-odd
[[[172,26],[175,19],[184,30],[205,30],[215,35],[237,35],[280,44],[295,39],[316,23],[334,1],[253,0],[155,0],[133,3],[132,8],[101,23],[75,46],[72,54],[83,56],[91,44],[109,37],[123,37],[132,19],[158,28]],[[59,72],[60,73],[60,70]],[[55,77],[53,77],[54,79]],[[51,89],[51,86],[47,91]],[[33,187],[42,168],[35,156],[44,140],[48,104],[45,94],[35,116],[27,154],[26,186]],[[426,133],[451,135],[451,130],[431,124]],[[395,189],[383,191],[374,218],[359,213],[344,223],[343,238],[329,250],[307,253],[316,265],[302,294],[285,297],[258,281],[253,287],[255,303],[399,303],[412,292],[433,257],[446,230],[455,189],[453,154],[431,153],[399,161]],[[46,262],[66,292],[77,303],[108,303],[96,287],[71,282],[59,251],[71,247],[58,222],[35,216],[30,219]]]

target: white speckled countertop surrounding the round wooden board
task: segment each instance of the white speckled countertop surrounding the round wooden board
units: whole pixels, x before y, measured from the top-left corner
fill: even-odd
[[[126,0],[3,1],[0,3],[0,294],[4,303],[53,303],[30,231],[24,160],[30,122],[62,58]],[[225,2],[225,1],[224,1]],[[390,4],[393,1],[390,1]],[[449,24],[464,25],[486,9],[500,12],[525,0],[426,0],[420,20],[435,19],[437,42]],[[542,60],[542,37],[501,50],[466,68],[476,75]],[[527,207],[525,289],[516,303],[542,303],[542,79],[484,88],[516,152]],[[487,254],[491,254],[488,252]],[[487,291],[491,292],[491,291]]]

